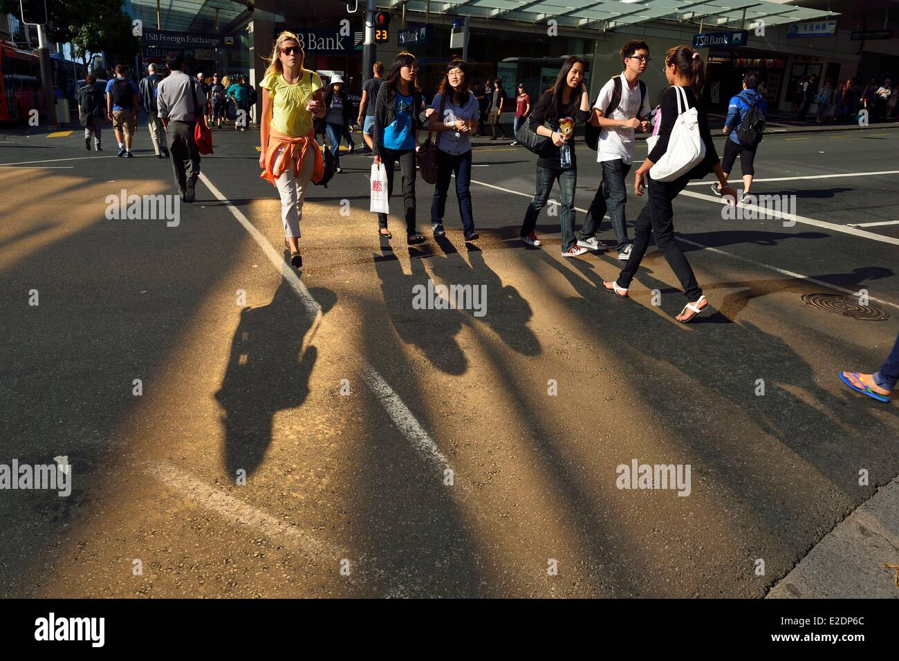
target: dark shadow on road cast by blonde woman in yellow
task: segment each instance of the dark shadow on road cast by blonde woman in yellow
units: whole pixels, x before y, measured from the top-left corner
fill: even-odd
[[[334,306],[333,291],[317,288],[309,293],[323,314]],[[224,409],[222,450],[229,475],[237,469],[251,475],[271,444],[274,415],[306,401],[318,353],[315,344],[305,352],[302,347],[313,320],[286,279],[268,305],[240,311],[225,377],[215,394]]]

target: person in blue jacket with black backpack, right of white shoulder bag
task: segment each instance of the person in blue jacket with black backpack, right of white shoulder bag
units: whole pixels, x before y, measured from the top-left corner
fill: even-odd
[[[721,169],[728,176],[734,167],[736,157],[740,156],[740,169],[743,171],[743,198],[741,201],[751,202],[749,190],[752,188],[752,167],[755,161],[755,150],[761,142],[765,130],[765,117],[768,114],[768,103],[759,94],[761,76],[750,71],[743,76],[743,92],[731,97],[727,107],[725,120],[725,156],[721,159]],[[729,134],[729,135],[728,135]],[[712,184],[712,192],[721,194],[717,183]]]

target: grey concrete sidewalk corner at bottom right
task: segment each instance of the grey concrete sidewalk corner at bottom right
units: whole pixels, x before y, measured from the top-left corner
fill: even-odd
[[[899,477],[859,505],[766,599],[899,599]]]

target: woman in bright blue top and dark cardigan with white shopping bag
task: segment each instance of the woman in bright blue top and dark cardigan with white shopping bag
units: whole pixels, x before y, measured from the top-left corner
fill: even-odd
[[[415,153],[418,150],[418,130],[421,128],[419,111],[422,107],[422,91],[415,85],[418,64],[412,53],[396,56],[390,73],[378,89],[375,102],[375,127],[372,132],[371,193],[376,194],[374,174],[383,170],[387,183],[387,198],[393,192],[394,165],[399,161],[403,177],[403,204],[405,206],[406,241],[410,246],[420,244],[424,237],[415,228]],[[379,192],[378,192],[379,194]],[[375,199],[372,197],[372,206]],[[378,211],[378,231],[390,238],[387,229],[387,212]]]

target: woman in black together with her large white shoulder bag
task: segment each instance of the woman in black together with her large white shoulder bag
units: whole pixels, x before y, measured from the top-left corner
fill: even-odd
[[[621,298],[628,297],[628,287],[643,261],[652,234],[687,297],[687,305],[674,317],[683,323],[708,308],[708,300],[674,238],[672,201],[690,179],[701,179],[710,171],[716,174],[728,204],[736,204],[736,192],[727,184],[708,130],[708,115],[698,104],[706,80],[706,67],[699,52],[690,46],[669,49],[665,55],[665,76],[672,86],[662,94],[658,131],[648,141],[649,155],[637,169],[634,181],[638,196],[643,195],[644,180],[647,181],[649,201],[636,219],[634,247],[628,263],[617,280],[604,281],[602,285]]]

